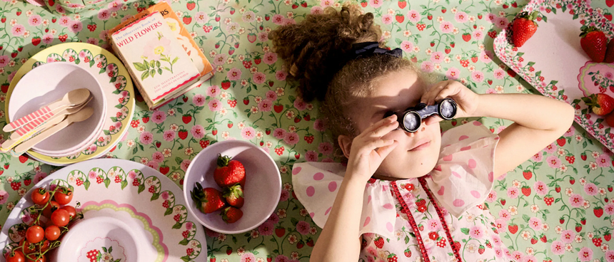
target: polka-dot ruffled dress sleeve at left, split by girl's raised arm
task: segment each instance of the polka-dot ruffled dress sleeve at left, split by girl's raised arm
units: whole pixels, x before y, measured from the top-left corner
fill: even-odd
[[[292,169],[294,194],[305,206],[311,219],[324,228],[333,209],[346,167],[341,163],[303,162]],[[365,184],[359,233],[374,233],[391,238],[396,222],[396,208],[389,182],[376,180]]]

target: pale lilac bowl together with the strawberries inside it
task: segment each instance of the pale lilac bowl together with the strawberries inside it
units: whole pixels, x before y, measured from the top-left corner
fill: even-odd
[[[217,142],[198,153],[183,178],[183,197],[196,220],[223,234],[260,226],[277,208],[281,176],[256,145]]]

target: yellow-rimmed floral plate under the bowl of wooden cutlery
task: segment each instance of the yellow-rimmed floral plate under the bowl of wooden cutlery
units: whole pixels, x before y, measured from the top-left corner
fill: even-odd
[[[17,70],[6,93],[5,112],[9,112],[11,93],[19,80],[30,70],[45,63],[58,61],[75,63],[96,75],[106,95],[106,115],[103,130],[96,141],[86,150],[67,157],[49,157],[33,150],[31,157],[56,166],[65,166],[87,159],[101,157],[111,150],[128,131],[129,121],[134,114],[134,88],[124,65],[113,54],[89,43],[61,43],[46,48],[32,56],[24,66]],[[11,122],[6,114],[6,121]]]

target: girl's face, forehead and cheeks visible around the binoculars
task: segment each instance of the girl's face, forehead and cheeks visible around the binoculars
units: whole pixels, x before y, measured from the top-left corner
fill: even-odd
[[[353,120],[360,132],[379,120],[388,111],[403,112],[420,103],[426,87],[412,70],[401,70],[386,75],[376,83],[373,93],[359,98]],[[440,146],[439,122],[426,125],[423,121],[417,132],[393,130],[383,137],[396,140],[397,147],[388,154],[376,172],[376,177],[411,178],[421,177],[435,167]]]

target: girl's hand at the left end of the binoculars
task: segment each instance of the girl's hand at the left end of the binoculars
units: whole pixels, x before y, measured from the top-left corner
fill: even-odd
[[[373,176],[383,159],[398,145],[395,140],[382,139],[398,127],[396,119],[396,115],[386,117],[354,137],[346,177],[352,176],[366,182]]]

